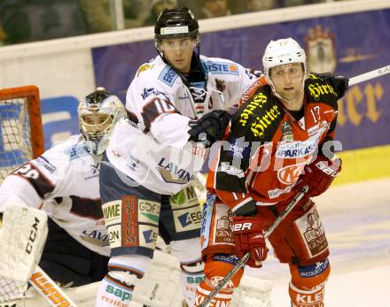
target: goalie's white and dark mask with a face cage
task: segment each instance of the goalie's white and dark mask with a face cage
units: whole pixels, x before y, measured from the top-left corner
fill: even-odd
[[[105,88],[97,88],[86,96],[80,102],[77,112],[82,135],[87,141],[87,150],[92,155],[105,151],[115,123],[127,118],[121,100],[108,93]]]

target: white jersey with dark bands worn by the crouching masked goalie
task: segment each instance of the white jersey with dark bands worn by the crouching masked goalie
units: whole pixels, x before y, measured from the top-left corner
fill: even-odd
[[[0,211],[7,205],[42,208],[86,248],[109,256],[99,196],[101,155],[90,155],[83,140],[73,135],[10,174],[0,187]]]

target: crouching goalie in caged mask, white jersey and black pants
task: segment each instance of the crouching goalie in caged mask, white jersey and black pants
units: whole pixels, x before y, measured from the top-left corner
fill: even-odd
[[[82,134],[22,165],[0,187],[0,211],[20,205],[48,212],[50,230],[39,265],[71,287],[101,280],[106,273],[110,249],[98,175],[113,125],[127,117],[118,97],[104,88],[87,96],[78,113]]]

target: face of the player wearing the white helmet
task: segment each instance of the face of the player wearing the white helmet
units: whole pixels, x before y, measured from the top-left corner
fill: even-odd
[[[300,63],[278,65],[270,68],[269,77],[277,94],[292,100],[299,96],[303,83],[303,67]]]

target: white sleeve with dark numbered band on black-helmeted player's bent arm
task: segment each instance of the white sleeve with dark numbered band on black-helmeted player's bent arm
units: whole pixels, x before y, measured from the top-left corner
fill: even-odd
[[[136,77],[126,96],[126,108],[135,113],[144,132],[165,146],[183,148],[190,137],[190,118],[175,108],[175,97],[160,81]]]

